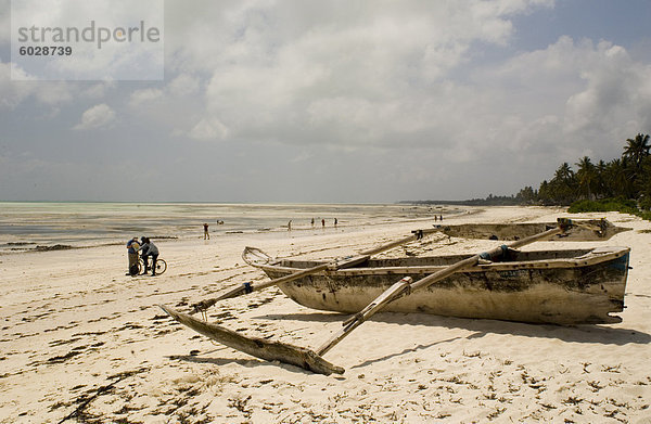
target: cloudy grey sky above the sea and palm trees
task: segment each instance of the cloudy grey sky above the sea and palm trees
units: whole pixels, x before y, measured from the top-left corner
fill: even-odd
[[[510,195],[651,133],[649,0],[163,8],[163,80],[17,81],[0,0],[0,201]]]

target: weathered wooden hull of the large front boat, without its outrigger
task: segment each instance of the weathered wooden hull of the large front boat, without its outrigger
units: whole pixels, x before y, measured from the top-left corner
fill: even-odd
[[[561,325],[615,323],[624,308],[628,247],[509,250],[390,304],[384,310]],[[404,277],[418,281],[468,255],[368,260],[279,284],[309,308],[354,313]],[[259,266],[276,279],[322,261],[280,260]]]

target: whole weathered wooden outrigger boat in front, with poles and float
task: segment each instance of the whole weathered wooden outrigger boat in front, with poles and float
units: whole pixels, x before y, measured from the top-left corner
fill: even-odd
[[[584,236],[588,240],[595,235],[608,240],[613,235],[603,231],[603,221],[596,226],[592,221],[559,218],[554,228],[476,255],[371,259],[372,255],[420,240],[437,229],[412,231],[412,235],[401,240],[331,261],[275,261],[259,249],[247,248],[243,257],[248,264],[278,278],[255,287],[244,283],[217,298],[193,305],[191,313],[205,312],[219,300],[277,285],[311,308],[355,312],[315,350],[245,336],[191,313],[159,306],[176,321],[226,346],[326,375],[342,374],[344,369],[322,356],[382,309],[558,324],[620,322],[609,313],[624,308],[628,247],[518,250],[576,229],[587,229]]]

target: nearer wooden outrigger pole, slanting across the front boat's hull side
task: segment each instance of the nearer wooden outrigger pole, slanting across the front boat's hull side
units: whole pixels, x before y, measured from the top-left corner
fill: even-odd
[[[336,332],[334,335],[328,339],[323,345],[321,345],[317,350],[317,355],[322,356],[332,349],[337,343],[340,343],[344,337],[346,337],[353,330],[357,329],[365,321],[367,321],[371,316],[379,312],[382,308],[384,308],[390,303],[403,297],[408,296],[420,288],[429,287],[430,285],[437,283],[447,277],[454,274],[455,272],[462,271],[463,269],[474,267],[477,265],[480,259],[495,259],[499,258],[508,248],[518,248],[525,246],[527,244],[537,242],[539,240],[544,240],[547,237],[554,236],[556,234],[560,234],[565,231],[567,224],[561,223],[559,221],[559,227],[553,228],[551,230],[547,230],[542,233],[535,234],[528,236],[526,239],[519,240],[511,244],[502,245],[495,247],[492,250],[481,253],[474,256],[471,256],[467,259],[460,260],[447,268],[444,268],[439,271],[436,271],[425,278],[420,279],[416,283],[411,283],[411,279],[403,279],[396,284],[392,285],[384,293],[382,293],[379,297],[376,297],[373,301],[371,301],[366,308],[363,308],[360,312],[356,313],[348,320],[344,321],[342,329]]]

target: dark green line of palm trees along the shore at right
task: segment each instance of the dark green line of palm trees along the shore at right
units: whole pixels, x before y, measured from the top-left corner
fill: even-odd
[[[593,163],[588,156],[578,159],[576,170],[563,163],[553,178],[538,190],[525,187],[515,195],[518,204],[566,206],[577,201],[607,198],[634,200],[642,209],[651,208],[651,145],[649,134],[627,139],[622,156]]]

